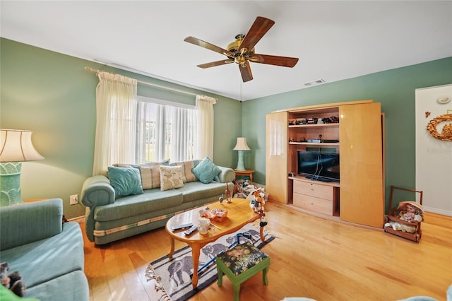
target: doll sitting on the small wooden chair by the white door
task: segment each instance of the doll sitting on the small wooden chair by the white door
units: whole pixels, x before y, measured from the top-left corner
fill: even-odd
[[[398,204],[397,209],[400,211],[398,218],[400,220],[405,220],[407,222],[422,222],[424,220],[424,211],[420,203],[415,201],[401,201]],[[384,224],[385,227],[391,227],[393,230],[400,230],[403,232],[414,233],[416,232],[416,227],[412,225],[405,225],[403,223],[398,223],[390,221]]]

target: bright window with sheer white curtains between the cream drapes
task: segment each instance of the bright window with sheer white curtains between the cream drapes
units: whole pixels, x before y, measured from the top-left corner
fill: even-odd
[[[198,111],[168,103],[138,97],[136,163],[194,159]]]

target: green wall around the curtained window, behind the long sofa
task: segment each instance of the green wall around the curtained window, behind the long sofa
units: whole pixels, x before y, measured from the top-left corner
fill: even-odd
[[[237,152],[231,151],[242,129],[242,106],[237,100],[4,38],[0,47],[0,127],[32,130],[33,144],[45,157],[23,163],[23,199],[61,198],[67,218],[84,215],[83,205],[69,205],[69,196],[80,197],[83,181],[93,170],[98,79],[85,66],[217,98],[213,160],[223,166],[237,163]],[[138,95],[195,104],[194,96],[142,84]]]

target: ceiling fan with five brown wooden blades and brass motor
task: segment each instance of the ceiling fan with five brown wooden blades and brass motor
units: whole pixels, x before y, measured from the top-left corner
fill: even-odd
[[[196,37],[186,37],[185,42],[189,42],[194,45],[201,46],[203,48],[224,54],[227,59],[221,61],[212,61],[210,63],[197,65],[200,68],[210,68],[214,66],[221,66],[230,63],[236,63],[239,65],[240,73],[242,74],[242,80],[244,82],[251,81],[253,74],[249,66],[249,61],[259,64],[268,64],[275,66],[283,66],[292,68],[297,64],[298,58],[296,57],[278,57],[268,54],[256,54],[254,53],[254,46],[261,40],[268,30],[275,24],[275,21],[268,18],[257,17],[251,28],[246,35],[236,35],[235,41],[227,45],[227,49],[215,46],[209,42],[199,40]]]

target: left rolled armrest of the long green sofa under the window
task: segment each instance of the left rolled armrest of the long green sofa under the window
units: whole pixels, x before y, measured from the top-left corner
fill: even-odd
[[[102,175],[88,177],[83,182],[81,201],[87,207],[95,207],[114,203],[114,188],[109,179]]]

